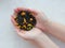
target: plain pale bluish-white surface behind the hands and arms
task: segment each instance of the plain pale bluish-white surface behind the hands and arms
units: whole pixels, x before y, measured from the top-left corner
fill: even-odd
[[[65,25],[65,0],[0,0],[0,48],[32,48],[14,31],[11,15],[17,6],[42,10],[51,20]],[[50,36],[61,48],[65,43]]]

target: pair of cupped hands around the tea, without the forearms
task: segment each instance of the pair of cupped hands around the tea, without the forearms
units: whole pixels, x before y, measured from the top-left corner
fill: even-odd
[[[14,20],[14,18],[20,11],[32,12],[34,17],[37,20],[37,23],[36,23],[36,27],[32,28],[30,31],[21,30],[16,26],[16,21]],[[48,22],[48,19],[44,16],[46,15],[42,12],[39,12],[39,11],[36,11],[36,10],[30,10],[30,9],[25,9],[25,7],[18,7],[18,9],[14,10],[14,14],[11,16],[11,21],[14,25],[15,30],[21,37],[23,37],[25,39],[36,39],[37,36],[42,34],[41,30],[44,30],[44,25]]]

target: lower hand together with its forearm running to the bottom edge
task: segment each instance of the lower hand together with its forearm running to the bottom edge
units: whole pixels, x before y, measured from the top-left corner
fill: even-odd
[[[16,33],[24,39],[29,41],[39,48],[58,48],[40,29],[32,28],[30,31],[23,31],[16,27],[13,16],[11,20],[15,27]]]

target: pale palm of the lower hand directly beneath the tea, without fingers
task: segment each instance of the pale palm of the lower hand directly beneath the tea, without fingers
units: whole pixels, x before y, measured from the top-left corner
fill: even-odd
[[[41,31],[37,28],[34,28],[30,31],[18,31],[17,34],[22,36],[25,39],[35,39],[39,34],[41,34]]]

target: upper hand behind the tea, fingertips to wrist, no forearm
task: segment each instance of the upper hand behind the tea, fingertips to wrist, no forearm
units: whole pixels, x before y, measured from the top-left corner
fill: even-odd
[[[18,11],[29,11],[29,12],[34,13],[34,17],[37,20],[36,27],[43,30],[43,31],[47,30],[47,25],[49,23],[49,19],[44,15],[43,12],[40,12],[40,11],[37,11],[37,10],[25,9],[25,7],[17,7],[17,9],[14,10],[14,15],[13,16],[16,16]]]

